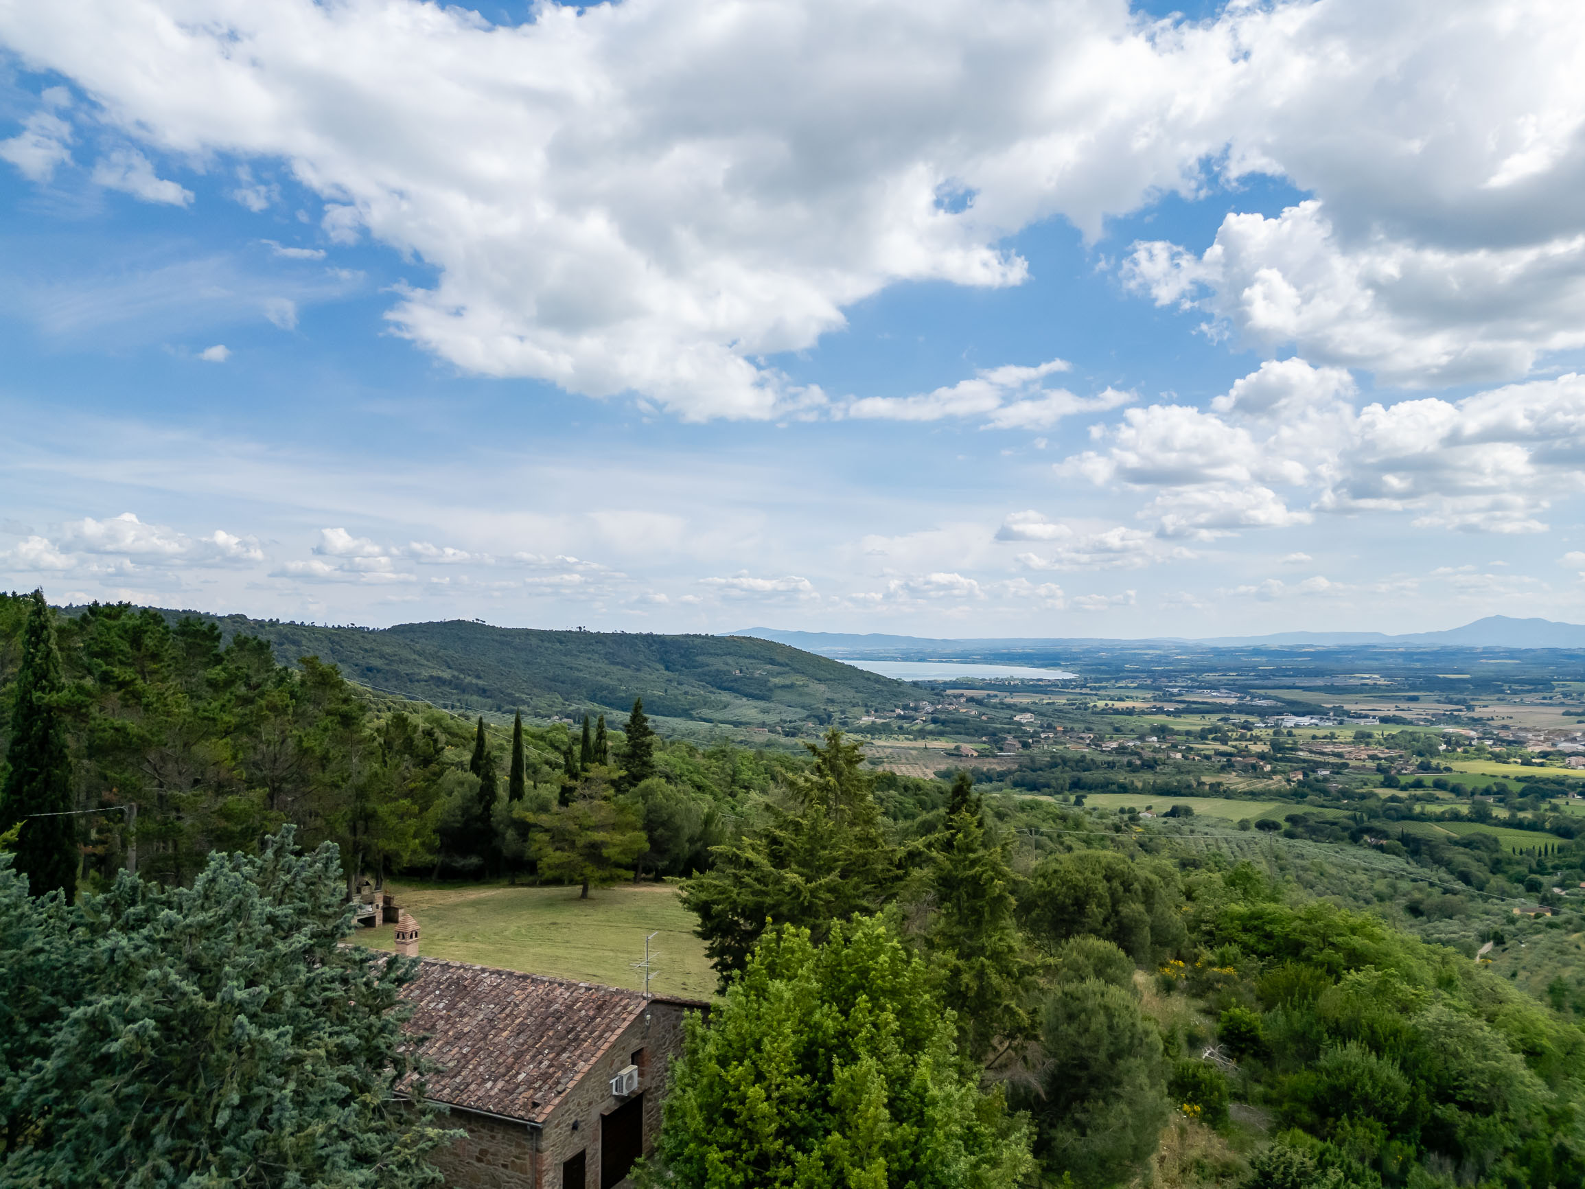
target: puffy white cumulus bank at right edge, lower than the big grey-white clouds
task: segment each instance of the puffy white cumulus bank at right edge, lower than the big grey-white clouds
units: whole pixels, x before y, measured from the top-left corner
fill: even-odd
[[[1195,537],[1290,528],[1309,522],[1309,509],[1415,512],[1417,528],[1541,533],[1553,498],[1585,490],[1585,377],[1574,373],[1460,401],[1355,411],[1352,395],[1341,369],[1268,361],[1209,412],[1129,409],[1122,422],[1095,428],[1102,449],[1067,458],[1057,472],[1154,490],[1140,515],[1162,536]]]

